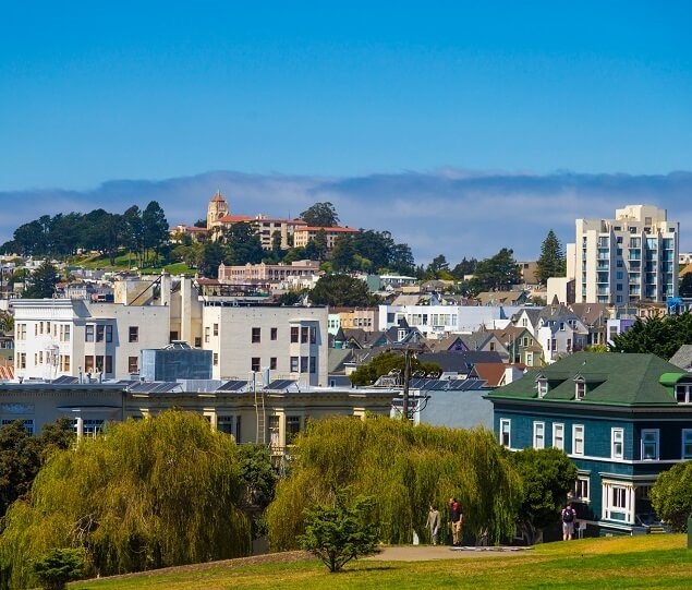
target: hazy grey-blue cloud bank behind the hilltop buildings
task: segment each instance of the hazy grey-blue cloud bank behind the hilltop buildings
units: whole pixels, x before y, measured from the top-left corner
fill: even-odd
[[[518,260],[535,260],[553,229],[562,243],[574,240],[574,219],[611,218],[628,204],[652,204],[680,221],[680,250],[692,250],[692,172],[659,176],[522,174],[444,169],[351,178],[246,174],[213,171],[160,181],[114,180],[89,191],[0,192],[0,242],[41,215],[123,213],[158,201],[171,226],[206,216],[220,190],[231,213],[298,217],[317,202],[333,203],[342,225],[389,230],[408,243],[416,263],[445,254],[484,258],[511,248]]]

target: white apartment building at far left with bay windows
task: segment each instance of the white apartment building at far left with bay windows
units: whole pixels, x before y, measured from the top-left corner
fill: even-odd
[[[15,299],[14,375],[129,378],[139,350],[169,342],[168,305],[92,303],[78,299]]]

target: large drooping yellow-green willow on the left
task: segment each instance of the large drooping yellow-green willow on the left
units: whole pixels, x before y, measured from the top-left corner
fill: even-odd
[[[10,507],[0,563],[10,587],[25,588],[36,583],[32,564],[53,547],[84,547],[100,575],[246,555],[242,493],[235,443],[202,417],[168,411],[113,424],[56,454],[28,499]]]

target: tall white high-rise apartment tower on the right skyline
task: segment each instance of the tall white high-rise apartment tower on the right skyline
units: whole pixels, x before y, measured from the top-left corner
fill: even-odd
[[[615,219],[576,219],[567,276],[578,303],[665,302],[678,294],[680,224],[666,209],[627,205]]]

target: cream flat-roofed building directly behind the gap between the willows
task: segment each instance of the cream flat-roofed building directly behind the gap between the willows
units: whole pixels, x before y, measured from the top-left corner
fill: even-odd
[[[202,348],[211,350],[214,378],[327,384],[327,308],[205,305]]]

